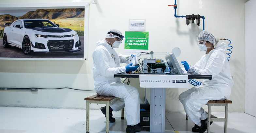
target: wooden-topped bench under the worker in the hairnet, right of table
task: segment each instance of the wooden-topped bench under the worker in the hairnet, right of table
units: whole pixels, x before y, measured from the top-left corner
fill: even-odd
[[[225,122],[224,125],[224,133],[228,132],[228,104],[232,103],[231,100],[225,99],[225,100],[213,100],[213,101],[208,101],[206,105],[208,105],[208,121],[207,121],[207,133],[210,133],[210,122],[211,121],[222,121]],[[211,115],[211,107],[212,106],[225,106],[225,117],[224,118],[217,118],[214,115]],[[186,115],[186,120],[187,120],[187,115]]]

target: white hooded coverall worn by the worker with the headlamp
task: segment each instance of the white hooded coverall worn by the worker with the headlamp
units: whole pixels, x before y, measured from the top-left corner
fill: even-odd
[[[114,74],[125,73],[125,66],[120,67],[120,63],[126,63],[125,57],[130,55],[119,54],[104,39],[96,43],[98,46],[93,56],[93,79],[94,88],[97,94],[104,96],[119,97],[110,103],[114,111],[119,111],[125,107],[127,125],[136,125],[139,119],[139,93],[130,85],[121,84],[121,78],[114,78]]]

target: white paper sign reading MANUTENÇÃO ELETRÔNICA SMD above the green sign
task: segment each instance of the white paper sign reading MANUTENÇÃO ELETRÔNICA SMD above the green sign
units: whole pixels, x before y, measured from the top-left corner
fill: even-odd
[[[145,31],[145,19],[130,19],[129,31]]]

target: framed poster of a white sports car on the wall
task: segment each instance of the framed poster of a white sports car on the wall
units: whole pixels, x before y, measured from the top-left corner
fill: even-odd
[[[1,4],[0,59],[88,58],[88,3],[63,5]]]

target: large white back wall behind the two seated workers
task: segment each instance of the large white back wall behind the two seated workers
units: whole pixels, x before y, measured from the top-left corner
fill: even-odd
[[[177,15],[200,14],[205,17],[205,30],[216,38],[232,41],[229,61],[234,80],[229,112],[244,112],[245,106],[245,2],[248,0],[177,0]],[[87,0],[45,0],[44,3],[90,2]],[[40,3],[34,0],[8,0],[0,4]],[[0,60],[0,87],[8,88],[61,88],[93,89],[92,52],[95,43],[104,38],[109,29],[116,28],[122,33],[128,31],[129,19],[146,19],[149,31],[149,51],[171,52],[174,47],[182,51],[179,61],[186,60],[194,65],[204,52],[197,46],[197,36],[202,31],[200,26],[186,26],[185,18],[175,18],[174,0],[98,0],[89,5],[89,40],[88,59],[85,61],[31,61]],[[228,43],[228,41],[226,41]],[[124,45],[118,48],[124,53]],[[228,51],[225,51],[228,53]],[[141,56],[143,57],[143,56]],[[164,55],[154,55],[164,59]],[[143,58],[147,58],[144,56]],[[123,64],[125,65],[125,64]],[[41,82],[31,83],[37,78]],[[58,79],[53,82],[53,79]],[[59,80],[59,79],[63,79]],[[67,80],[69,79],[69,80]],[[131,85],[140,92],[143,100],[144,89],[139,87],[137,79],[130,79]],[[192,85],[189,86],[190,88]],[[166,89],[166,111],[184,111],[178,96],[188,88]],[[85,108],[85,97],[95,91],[75,91],[70,89],[39,90],[38,92],[0,91],[0,106],[50,107],[50,108]],[[91,105],[97,108],[102,105]],[[224,111],[224,108],[212,108],[212,111]]]

